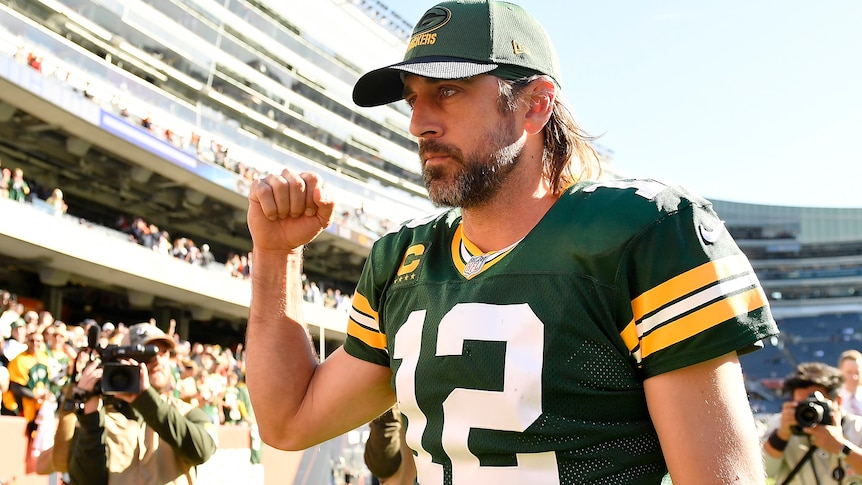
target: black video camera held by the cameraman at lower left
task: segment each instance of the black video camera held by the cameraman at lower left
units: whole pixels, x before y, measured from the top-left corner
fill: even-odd
[[[102,380],[93,391],[97,394],[141,392],[141,371],[136,365],[122,364],[122,359],[148,362],[159,355],[157,345],[109,345],[96,348],[102,359]]]

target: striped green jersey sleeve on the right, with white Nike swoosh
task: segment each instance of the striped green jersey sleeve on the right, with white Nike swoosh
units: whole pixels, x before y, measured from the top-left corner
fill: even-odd
[[[631,302],[622,336],[645,378],[753,350],[778,333],[751,264],[708,203],[666,213],[622,264]]]

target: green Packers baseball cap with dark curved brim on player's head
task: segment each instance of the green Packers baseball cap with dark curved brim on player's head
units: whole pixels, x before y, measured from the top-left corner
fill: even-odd
[[[547,74],[561,84],[551,39],[522,7],[498,0],[441,2],[416,24],[403,61],[359,78],[353,102],[368,107],[402,99],[406,74],[461,79],[486,73],[504,79]]]

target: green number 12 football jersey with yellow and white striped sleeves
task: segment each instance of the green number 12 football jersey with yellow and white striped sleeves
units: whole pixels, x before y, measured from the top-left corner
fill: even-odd
[[[420,483],[659,483],[644,379],[778,333],[709,202],[580,183],[482,253],[459,210],[374,245],[344,347],[389,366]]]

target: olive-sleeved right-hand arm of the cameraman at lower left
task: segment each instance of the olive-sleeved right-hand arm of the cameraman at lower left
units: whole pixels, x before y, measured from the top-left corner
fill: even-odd
[[[195,408],[188,414],[162,400],[155,389],[148,388],[132,402],[159,438],[195,465],[207,461],[216,451],[216,443],[207,431],[209,417]]]

